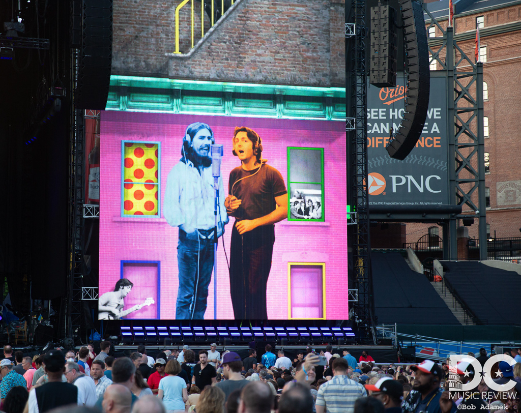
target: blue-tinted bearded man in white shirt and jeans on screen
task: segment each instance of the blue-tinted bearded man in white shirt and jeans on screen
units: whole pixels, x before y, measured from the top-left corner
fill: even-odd
[[[168,173],[163,207],[172,227],[179,227],[177,261],[179,288],[176,319],[203,319],[208,285],[214,268],[214,178],[210,145],[212,129],[202,122],[187,127],[181,159]],[[219,193],[224,194],[219,177]],[[217,236],[224,234],[228,216],[224,196],[219,199]]]

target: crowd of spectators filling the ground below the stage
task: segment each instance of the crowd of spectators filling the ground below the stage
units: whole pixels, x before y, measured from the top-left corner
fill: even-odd
[[[511,392],[490,392],[484,378],[471,392],[451,392],[449,372],[463,382],[474,371],[449,369],[425,360],[417,365],[378,364],[367,351],[356,360],[349,349],[312,348],[286,354],[266,345],[262,357],[233,351],[222,355],[215,343],[194,352],[188,345],[155,355],[145,346],[109,356],[110,342],[79,351],[53,348],[24,357],[4,346],[0,361],[1,406],[6,413],[455,413],[503,410],[521,413],[521,362],[492,368],[498,384]],[[340,355],[342,353],[342,355]],[[515,353],[515,354],[514,354]],[[292,356],[291,358],[288,356]],[[295,357],[293,357],[295,356]],[[515,361],[521,348],[513,349]],[[488,359],[481,349],[477,360]],[[459,365],[458,365],[459,366]],[[67,409],[67,411],[65,410]]]

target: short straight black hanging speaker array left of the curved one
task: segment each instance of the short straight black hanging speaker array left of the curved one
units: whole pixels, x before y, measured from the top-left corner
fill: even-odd
[[[395,10],[390,6],[371,7],[369,83],[378,87],[396,86]]]

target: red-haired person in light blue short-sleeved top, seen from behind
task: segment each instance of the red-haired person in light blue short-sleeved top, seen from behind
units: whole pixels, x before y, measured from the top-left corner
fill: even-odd
[[[177,360],[168,360],[165,373],[159,381],[157,398],[163,401],[167,413],[184,413],[184,404],[188,401],[187,383],[178,374],[181,365]]]

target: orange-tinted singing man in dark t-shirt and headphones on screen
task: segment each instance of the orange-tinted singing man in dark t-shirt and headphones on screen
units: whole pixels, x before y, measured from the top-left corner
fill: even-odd
[[[266,288],[275,242],[275,223],[288,218],[288,191],[280,172],[261,160],[261,137],[235,128],[228,215],[235,217],[230,247],[230,293],[235,319],[267,319]]]

